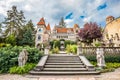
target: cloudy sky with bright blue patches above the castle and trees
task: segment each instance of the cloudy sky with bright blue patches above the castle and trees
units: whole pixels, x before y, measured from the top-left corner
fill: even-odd
[[[26,19],[31,19],[35,26],[41,17],[51,27],[58,24],[61,17],[68,27],[75,23],[82,27],[86,22],[97,22],[104,27],[107,16],[120,17],[120,0],[0,0],[0,22],[12,5],[23,10]]]

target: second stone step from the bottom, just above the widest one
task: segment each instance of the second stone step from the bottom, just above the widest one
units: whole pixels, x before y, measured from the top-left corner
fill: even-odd
[[[87,71],[86,68],[44,68],[44,71]]]

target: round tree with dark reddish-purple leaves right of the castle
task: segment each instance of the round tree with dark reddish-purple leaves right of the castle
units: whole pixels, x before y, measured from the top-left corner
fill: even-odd
[[[80,29],[78,33],[82,42],[92,43],[93,39],[100,39],[102,37],[101,28],[94,22],[86,23],[84,28]]]

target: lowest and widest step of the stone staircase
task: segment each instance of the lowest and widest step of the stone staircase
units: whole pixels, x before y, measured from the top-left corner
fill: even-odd
[[[84,71],[84,72],[80,72],[80,71],[69,71],[69,72],[65,72],[65,71],[41,71],[41,72],[37,72],[37,71],[30,71],[30,74],[32,75],[98,75],[100,74],[100,72],[96,72],[96,71]]]

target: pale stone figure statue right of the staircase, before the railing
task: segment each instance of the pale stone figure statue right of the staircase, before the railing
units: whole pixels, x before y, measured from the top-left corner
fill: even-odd
[[[97,54],[97,66],[99,66],[100,68],[105,67],[105,60],[104,60],[104,51],[102,48],[98,48],[96,50],[96,54]]]

